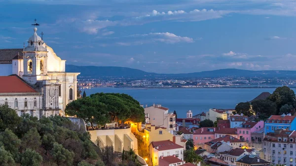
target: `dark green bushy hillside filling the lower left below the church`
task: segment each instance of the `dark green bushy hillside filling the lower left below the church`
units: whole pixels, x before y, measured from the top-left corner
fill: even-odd
[[[132,150],[128,154],[135,155]],[[0,166],[139,166],[126,155],[97,147],[89,133],[67,118],[19,117],[0,106]]]

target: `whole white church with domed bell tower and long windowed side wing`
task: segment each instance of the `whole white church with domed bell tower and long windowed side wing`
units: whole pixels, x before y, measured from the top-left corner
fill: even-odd
[[[77,75],[80,74],[65,72],[65,62],[37,35],[36,27],[26,48],[0,49],[0,80],[10,82],[12,76],[7,75],[14,74],[13,77],[35,90],[30,93],[0,90],[0,104],[16,109],[19,115],[27,112],[37,117],[64,116],[66,105],[77,99]],[[5,89],[3,86],[7,85],[1,81],[0,88]],[[25,103],[28,106],[22,105]]]

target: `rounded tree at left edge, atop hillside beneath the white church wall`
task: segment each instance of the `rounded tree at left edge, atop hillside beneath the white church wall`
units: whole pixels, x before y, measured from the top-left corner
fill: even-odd
[[[0,105],[0,131],[14,130],[20,122],[21,117],[16,114],[15,110],[7,105]]]

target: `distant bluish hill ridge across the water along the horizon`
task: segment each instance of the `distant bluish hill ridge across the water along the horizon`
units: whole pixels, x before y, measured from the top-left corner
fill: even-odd
[[[143,70],[117,67],[117,66],[75,66],[66,65],[67,72],[80,72],[81,77],[130,77],[130,78],[152,78],[152,77],[225,77],[225,76],[239,76],[239,77],[289,77],[296,78],[296,71],[293,70],[243,70],[235,68],[218,69],[212,71],[201,71],[192,73],[180,74],[161,74],[154,72],[146,72]]]

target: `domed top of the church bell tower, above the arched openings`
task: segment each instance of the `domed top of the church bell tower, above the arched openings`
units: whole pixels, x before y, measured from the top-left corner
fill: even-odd
[[[47,51],[42,45],[43,40],[37,35],[37,28],[34,28],[34,34],[28,39],[28,46],[24,51]]]

